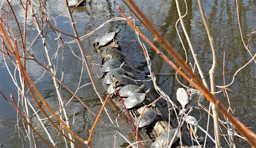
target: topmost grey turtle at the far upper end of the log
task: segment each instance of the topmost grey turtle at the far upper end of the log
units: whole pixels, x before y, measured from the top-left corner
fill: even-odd
[[[101,37],[97,37],[95,39],[95,41],[93,42],[93,46],[95,46],[96,44],[99,44],[98,48],[100,48],[102,46],[107,45],[110,41],[112,41],[116,37],[116,35],[119,33],[119,31],[120,31],[120,29],[118,29],[115,32],[107,33]]]

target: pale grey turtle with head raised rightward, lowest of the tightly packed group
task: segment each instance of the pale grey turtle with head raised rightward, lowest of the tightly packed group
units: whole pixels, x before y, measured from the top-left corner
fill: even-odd
[[[124,101],[125,107],[127,109],[130,109],[140,105],[145,100],[145,97],[149,94],[150,91],[151,91],[151,88],[147,90],[145,93],[133,93],[128,98],[124,98],[123,101]]]

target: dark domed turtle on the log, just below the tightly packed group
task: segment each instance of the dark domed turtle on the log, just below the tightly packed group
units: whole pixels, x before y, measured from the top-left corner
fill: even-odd
[[[148,110],[145,112],[145,114],[141,117],[139,128],[145,127],[147,125],[150,125],[152,122],[155,121],[157,117],[157,113],[155,110]],[[138,126],[139,118],[135,121],[135,125]]]

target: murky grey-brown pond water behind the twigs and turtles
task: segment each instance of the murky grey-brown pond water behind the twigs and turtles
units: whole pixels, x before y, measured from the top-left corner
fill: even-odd
[[[21,22],[24,23],[23,11],[20,11],[20,6],[18,2],[12,2],[16,14]],[[178,13],[176,10],[175,1],[136,1],[141,10],[145,12],[146,16],[152,21],[155,27],[167,37],[171,45],[182,55],[185,56],[182,49],[181,43],[176,32],[175,24],[178,20]],[[250,60],[250,55],[247,53],[246,49],[242,45],[235,1],[208,1],[203,2],[208,23],[211,27],[212,35],[215,41],[215,46],[217,48],[218,64],[217,72],[215,74],[215,81],[217,85],[223,85],[223,53],[225,52],[225,83],[230,83],[232,81],[233,75],[237,69],[245,65]],[[77,31],[80,36],[85,35],[97,28],[100,24],[104,23],[106,20],[119,17],[119,13],[116,9],[116,6],[120,5],[123,10],[128,14],[128,9],[120,1],[89,1],[86,3],[86,6],[79,8],[77,12],[73,13],[74,20],[76,22]],[[181,2],[182,13],[185,13],[185,4]],[[207,82],[209,82],[208,71],[212,63],[212,54],[210,50],[210,45],[205,31],[203,22],[201,21],[199,8],[197,1],[187,2],[188,14],[184,18],[184,23],[186,25],[187,31],[190,34],[192,45],[195,52],[197,53],[198,60],[200,61],[201,68],[204,70]],[[6,9],[6,6],[3,7]],[[73,29],[70,24],[68,13],[66,12],[66,6],[64,3],[59,1],[50,1],[47,2],[47,10],[50,15],[55,19],[51,18],[51,23],[58,26],[62,31],[73,34]],[[2,13],[4,11],[1,10]],[[239,2],[239,13],[242,33],[246,42],[248,41],[248,34],[252,31],[253,27],[256,26],[256,1],[243,1]],[[17,30],[15,24],[11,23],[11,26],[14,27],[14,30]],[[33,39],[37,36],[37,31],[31,24],[31,18],[28,21],[28,42],[31,43]],[[152,35],[145,29],[141,23],[137,23],[139,28],[153,40]],[[121,31],[118,35],[120,45],[124,54],[126,55],[127,60],[129,60],[134,67],[141,70],[140,76],[141,79],[144,79],[142,73],[147,71],[146,62],[144,60],[144,55],[142,50],[137,42],[136,35],[133,30],[126,24],[124,21],[110,22],[104,25],[96,33],[92,34],[88,39],[82,40],[83,49],[86,52],[89,58],[91,66],[96,66],[95,59],[99,56],[92,48],[93,40],[106,32],[115,31],[117,28],[120,28]],[[184,39],[183,32],[180,29],[179,31]],[[57,49],[57,42],[55,40],[56,34],[53,33],[49,28],[47,30],[47,39],[48,45],[51,47],[50,53],[54,54]],[[64,41],[70,41],[71,38],[67,36],[62,36]],[[193,57],[188,49],[187,42],[185,42],[185,47],[188,54],[188,62],[191,62],[194,65]],[[252,54],[255,53],[256,47],[255,37],[251,38],[249,50]],[[157,45],[157,43],[156,43]],[[159,45],[157,45],[159,47]],[[80,71],[82,69],[82,61],[78,60],[72,54],[72,50],[76,55],[79,55],[79,50],[77,45],[71,44],[68,46],[64,44],[64,49],[60,50],[60,55],[63,52],[64,61],[61,60],[61,57],[58,59],[58,76],[61,76],[60,71],[64,71],[63,81],[68,84],[72,90],[75,90],[78,84]],[[149,54],[153,63],[154,72],[174,72],[161,58],[154,52],[152,49],[148,49]],[[39,61],[43,61],[42,54],[44,53],[42,49],[41,39],[37,39],[30,51],[38,58]],[[8,62],[7,62],[8,63]],[[10,67],[11,71],[14,71],[14,67]],[[28,61],[27,69],[30,76],[33,80],[39,79],[44,70],[39,67],[35,62]],[[83,70],[83,78],[81,84],[86,84],[89,82],[87,72]],[[95,73],[97,76],[97,73]],[[12,83],[8,71],[5,67],[3,55],[0,56],[0,91],[2,91],[7,97],[9,94],[14,94],[17,98],[17,91],[15,85]],[[256,126],[254,124],[255,120],[255,104],[256,104],[256,66],[255,63],[249,64],[247,67],[242,69],[237,73],[234,83],[228,87],[228,97],[231,100],[231,105],[235,111],[235,115],[239,120],[246,124],[248,127],[251,127],[253,131],[256,131]],[[160,76],[157,78],[157,83],[161,86],[163,91],[165,91],[171,98],[175,98],[176,90],[180,85],[174,78],[174,76]],[[186,84],[186,83],[185,83]],[[57,108],[56,93],[53,90],[53,83],[50,79],[50,76],[46,73],[43,78],[38,80],[36,86],[42,92],[44,97],[49,102],[52,108]],[[217,91],[220,91],[217,89]],[[63,96],[66,100],[70,99],[71,95],[65,90],[62,90]],[[96,94],[93,94],[93,89],[91,85],[83,87],[78,91],[78,96],[83,98],[84,101],[89,105],[95,112],[98,112],[101,103],[97,98]],[[173,97],[172,97],[173,96]],[[217,94],[217,97],[225,104],[226,99],[223,97],[223,94]],[[79,134],[82,138],[88,137],[88,131],[90,130],[94,118],[92,118],[91,113],[87,112],[79,102],[73,99],[72,103],[68,106],[70,110],[70,115],[75,114],[75,124],[74,131]],[[195,110],[194,113],[198,113],[198,110]],[[199,114],[199,113],[198,113]],[[116,114],[113,111],[113,117]],[[223,117],[220,116],[222,119]],[[106,115],[103,113],[101,118],[106,122],[109,121]],[[205,127],[206,117],[200,120],[200,125]],[[12,108],[4,99],[0,99],[0,143],[6,144],[5,147],[22,147],[22,141],[19,138],[19,132],[15,126],[16,124],[16,111]],[[120,124],[122,125],[122,124]],[[125,127],[125,125],[122,125]],[[93,147],[113,147],[114,144],[114,134],[115,131],[106,128],[102,124],[98,124],[96,131],[94,132],[92,145]],[[96,140],[97,139],[97,140]],[[224,141],[224,140],[223,140]],[[117,146],[125,146],[124,140],[117,137]],[[238,141],[239,147],[243,147],[246,144],[245,141]],[[23,144],[26,147],[26,141],[23,141]],[[44,147],[45,145],[39,145],[39,147]]]

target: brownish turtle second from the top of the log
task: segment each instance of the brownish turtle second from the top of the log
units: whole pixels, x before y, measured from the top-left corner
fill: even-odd
[[[125,60],[125,55],[121,51],[114,48],[103,50],[101,53],[101,57],[102,57],[102,62],[104,61],[104,59],[105,60],[115,59],[118,61]]]

